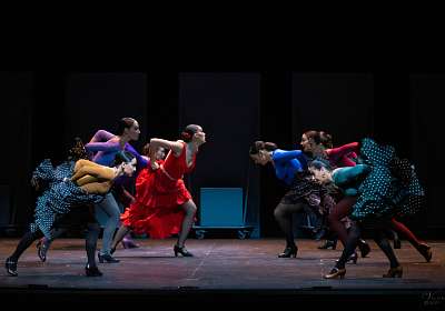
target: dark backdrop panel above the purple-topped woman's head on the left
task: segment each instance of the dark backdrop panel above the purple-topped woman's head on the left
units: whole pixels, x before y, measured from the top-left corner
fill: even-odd
[[[79,136],[88,142],[99,129],[116,133],[123,117],[138,120],[137,149],[147,141],[147,74],[142,72],[70,73],[66,76],[63,143]]]

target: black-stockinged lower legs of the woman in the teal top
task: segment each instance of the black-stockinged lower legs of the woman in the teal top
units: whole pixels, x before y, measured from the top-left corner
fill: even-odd
[[[396,268],[399,265],[399,263],[385,234],[385,231],[387,230],[388,225],[389,223],[386,221],[382,221],[378,224],[373,225],[375,232],[374,241],[377,243],[377,245],[382,249],[382,251],[389,260],[390,268]],[[357,223],[353,223],[347,235],[345,249],[343,250],[342,257],[338,260],[337,264],[335,265],[337,269],[345,268],[347,260],[354,253],[355,248],[359,242],[360,235],[362,235],[360,225]]]

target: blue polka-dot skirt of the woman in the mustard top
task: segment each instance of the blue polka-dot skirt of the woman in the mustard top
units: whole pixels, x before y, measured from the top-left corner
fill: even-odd
[[[51,229],[56,217],[68,213],[71,207],[77,204],[99,203],[102,195],[88,194],[72,181],[63,181],[70,178],[75,168],[73,161],[67,161],[56,169],[49,159],[42,161],[33,172],[33,178],[48,183],[48,188],[37,199],[34,222],[30,223],[31,232],[41,230],[51,239]]]

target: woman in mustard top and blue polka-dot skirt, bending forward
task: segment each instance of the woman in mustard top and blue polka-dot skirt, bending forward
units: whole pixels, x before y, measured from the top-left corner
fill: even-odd
[[[82,159],[83,158],[83,159]],[[119,153],[116,167],[107,168],[85,159],[86,152],[79,140],[69,151],[68,161],[53,168],[50,160],[44,160],[34,170],[32,183],[47,183],[47,189],[38,198],[34,222],[24,233],[16,251],[6,261],[6,269],[10,275],[17,277],[17,263],[20,255],[42,235],[51,238],[51,229],[58,217],[66,214],[75,205],[88,205],[100,202],[110,190],[112,180],[122,174],[132,174],[136,159],[131,153]],[[95,261],[95,237],[87,238],[88,264],[87,275],[101,275]]]

